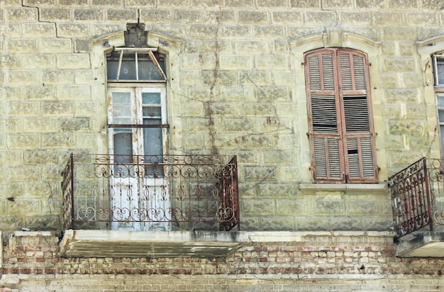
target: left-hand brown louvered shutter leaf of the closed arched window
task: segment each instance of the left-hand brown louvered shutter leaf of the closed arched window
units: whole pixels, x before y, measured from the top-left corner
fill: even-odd
[[[333,50],[306,55],[311,169],[315,181],[345,181]]]

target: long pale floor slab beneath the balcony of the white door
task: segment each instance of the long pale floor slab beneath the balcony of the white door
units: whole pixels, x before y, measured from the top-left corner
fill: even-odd
[[[243,232],[66,230],[64,257],[223,257],[248,242]]]

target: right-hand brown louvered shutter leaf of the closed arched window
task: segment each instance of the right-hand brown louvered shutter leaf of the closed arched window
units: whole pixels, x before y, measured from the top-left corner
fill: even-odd
[[[345,172],[348,182],[377,181],[367,60],[362,52],[338,50]]]

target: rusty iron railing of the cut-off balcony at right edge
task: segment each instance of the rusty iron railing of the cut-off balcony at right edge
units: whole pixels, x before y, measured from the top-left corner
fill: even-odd
[[[426,227],[433,231],[433,201],[442,183],[443,161],[425,157],[389,178],[396,238]]]

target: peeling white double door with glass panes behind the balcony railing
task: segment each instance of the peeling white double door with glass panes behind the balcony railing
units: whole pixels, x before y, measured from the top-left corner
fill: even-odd
[[[170,230],[165,88],[109,87],[111,229]]]

